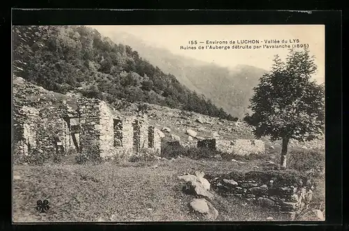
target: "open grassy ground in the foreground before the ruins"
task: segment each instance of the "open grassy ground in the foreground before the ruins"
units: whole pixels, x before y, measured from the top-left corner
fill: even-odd
[[[181,192],[178,176],[195,170],[226,173],[252,170],[253,161],[194,161],[179,158],[154,163],[103,163],[101,165],[14,166],[13,221],[199,221],[188,203],[194,198]],[[49,200],[40,214],[37,200]],[[237,198],[217,195],[218,221],[274,221],[285,217]]]

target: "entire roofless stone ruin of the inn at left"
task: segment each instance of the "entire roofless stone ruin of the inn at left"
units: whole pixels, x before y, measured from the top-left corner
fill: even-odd
[[[15,110],[14,121],[16,151],[24,156],[34,149],[47,156],[75,150],[102,158],[161,153],[161,137],[146,115],[125,116],[98,99],[80,98],[77,110],[65,102],[41,109],[23,106]]]

